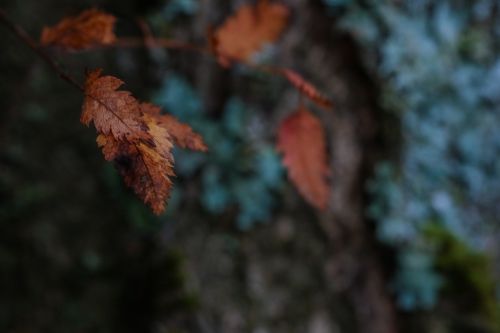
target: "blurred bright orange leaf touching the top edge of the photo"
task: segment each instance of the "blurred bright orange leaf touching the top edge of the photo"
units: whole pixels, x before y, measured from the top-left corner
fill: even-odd
[[[265,43],[274,42],[285,29],[289,10],[282,4],[260,0],[255,6],[243,5],[215,31],[216,53],[222,63],[227,58],[247,60]]]

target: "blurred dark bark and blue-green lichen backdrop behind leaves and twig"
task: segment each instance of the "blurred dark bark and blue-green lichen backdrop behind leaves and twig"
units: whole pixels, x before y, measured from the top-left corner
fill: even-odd
[[[0,0],[38,38],[97,6],[119,36],[202,44],[248,1]],[[81,93],[0,27],[0,332],[500,332],[500,2],[283,0],[254,61],[325,91],[332,195],[275,150],[283,80],[159,49],[53,53],[104,68],[200,132],[153,216],[79,123]]]

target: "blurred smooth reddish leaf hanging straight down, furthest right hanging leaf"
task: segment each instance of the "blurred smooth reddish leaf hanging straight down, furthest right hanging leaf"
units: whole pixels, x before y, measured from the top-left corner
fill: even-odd
[[[311,205],[325,209],[330,194],[325,134],[318,118],[304,107],[279,127],[278,150],[299,193]]]

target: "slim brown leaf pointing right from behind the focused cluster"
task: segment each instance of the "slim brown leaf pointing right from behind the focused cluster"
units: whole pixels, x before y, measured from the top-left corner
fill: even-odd
[[[198,151],[208,150],[201,135],[193,131],[191,126],[181,123],[170,114],[161,114],[161,109],[158,106],[150,103],[142,103],[141,110],[145,114],[153,116],[158,121],[158,125],[165,128],[175,144],[181,148]]]

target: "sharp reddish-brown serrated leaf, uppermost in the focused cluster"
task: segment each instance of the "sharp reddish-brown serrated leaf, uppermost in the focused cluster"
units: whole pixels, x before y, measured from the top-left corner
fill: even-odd
[[[139,102],[128,91],[117,91],[123,81],[114,76],[101,76],[101,69],[87,74],[85,100],[80,121],[94,122],[97,131],[116,139],[141,136],[147,127],[141,120]]]

